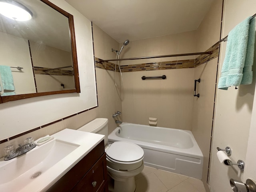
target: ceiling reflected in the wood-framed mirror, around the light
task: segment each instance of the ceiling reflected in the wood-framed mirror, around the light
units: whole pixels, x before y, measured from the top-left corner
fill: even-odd
[[[28,21],[15,21],[0,14],[0,32],[71,51],[68,18],[40,0],[15,0],[32,13]],[[61,34],[61,35],[60,35]]]

